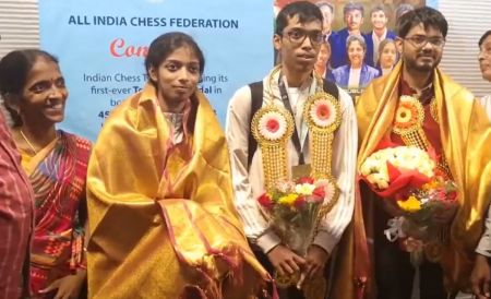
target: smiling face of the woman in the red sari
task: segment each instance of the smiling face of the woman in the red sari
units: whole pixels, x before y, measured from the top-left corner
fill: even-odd
[[[68,91],[58,63],[36,58],[27,74],[16,109],[27,125],[53,125],[64,118]]]

